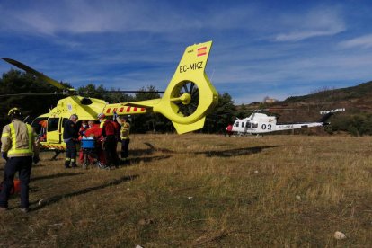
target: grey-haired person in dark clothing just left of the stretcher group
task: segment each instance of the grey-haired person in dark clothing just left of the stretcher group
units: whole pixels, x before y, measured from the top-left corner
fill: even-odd
[[[70,116],[66,121],[63,130],[63,141],[66,143],[66,159],[65,168],[76,168],[76,140],[78,138],[79,129],[76,126],[78,117],[75,114]],[[71,166],[70,166],[71,163]]]

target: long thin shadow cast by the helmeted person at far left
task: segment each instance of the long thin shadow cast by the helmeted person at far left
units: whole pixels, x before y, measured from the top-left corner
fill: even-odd
[[[75,191],[75,192],[71,192],[71,193],[66,193],[66,194],[59,195],[59,196],[50,197],[49,199],[43,199],[42,204],[36,206],[35,208],[31,208],[31,211],[36,211],[36,210],[39,210],[40,208],[44,208],[44,207],[47,207],[49,205],[52,205],[54,203],[57,203],[61,199],[66,199],[66,198],[70,198],[70,197],[84,195],[86,193],[90,193],[90,192],[93,192],[95,190],[102,190],[102,189],[107,188],[107,187],[118,185],[118,184],[120,184],[122,182],[132,181],[132,180],[135,180],[138,176],[139,175],[123,176],[120,179],[117,179],[117,180],[114,180],[114,181],[111,181],[111,182],[107,182],[107,183],[104,183],[102,185],[97,185],[97,186],[86,188],[84,190],[78,190],[78,191]],[[36,203],[38,203],[38,202],[36,202],[36,201],[31,202],[31,205],[32,204],[36,204]]]

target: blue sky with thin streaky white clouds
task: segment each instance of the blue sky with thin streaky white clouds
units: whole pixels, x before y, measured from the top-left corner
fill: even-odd
[[[370,1],[0,2],[0,57],[74,87],[164,90],[184,49],[236,104],[372,80]],[[0,72],[12,66],[0,61]]]

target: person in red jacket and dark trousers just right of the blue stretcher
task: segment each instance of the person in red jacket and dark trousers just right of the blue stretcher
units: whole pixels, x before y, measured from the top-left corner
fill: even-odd
[[[117,140],[115,136],[115,126],[111,122],[111,120],[107,120],[106,116],[103,113],[98,115],[98,120],[100,120],[100,128],[102,130],[102,137],[103,137],[103,150],[104,154],[106,155],[106,161],[108,167],[113,164],[115,167],[119,166],[119,157],[118,153],[116,152],[117,148]]]

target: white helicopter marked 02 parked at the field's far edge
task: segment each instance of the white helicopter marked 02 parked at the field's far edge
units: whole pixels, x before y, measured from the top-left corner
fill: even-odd
[[[278,123],[276,116],[268,116],[260,112],[253,112],[249,117],[242,120],[235,120],[231,129],[233,133],[238,135],[244,134],[263,134],[275,131],[292,130],[299,128],[314,128],[329,125],[328,120],[333,113],[345,111],[345,109],[335,109],[331,111],[320,111],[323,117],[315,122],[297,122],[297,123]],[[228,127],[226,128],[228,131]]]

